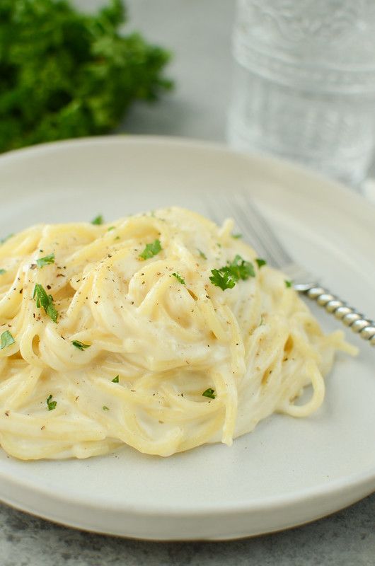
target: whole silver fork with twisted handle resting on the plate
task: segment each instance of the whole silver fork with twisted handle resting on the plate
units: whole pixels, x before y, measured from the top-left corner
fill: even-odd
[[[223,196],[218,198],[215,204],[207,203],[212,219],[217,222],[223,220],[223,207],[226,217],[231,216],[236,221],[244,238],[254,246],[260,257],[264,257],[270,265],[282,270],[292,279],[291,283],[296,291],[316,301],[325,308],[325,311],[350,327],[354,333],[368,340],[372,346],[375,345],[374,320],[367,318],[356,308],[348,306],[345,301],[331,294],[328,289],[321,287],[316,277],[297,264],[248,195],[243,193],[243,195],[232,195],[231,198]]]

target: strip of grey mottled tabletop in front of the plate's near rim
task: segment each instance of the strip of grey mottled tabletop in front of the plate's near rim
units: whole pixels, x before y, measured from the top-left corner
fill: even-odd
[[[224,543],[150,543],[0,507],[1,566],[373,566],[375,495],[311,525]]]

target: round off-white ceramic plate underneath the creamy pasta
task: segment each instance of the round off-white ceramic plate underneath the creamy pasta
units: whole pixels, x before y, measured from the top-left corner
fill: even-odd
[[[273,158],[195,141],[109,137],[0,158],[1,232],[90,220],[249,190],[297,259],[375,316],[375,209],[357,195]],[[339,323],[316,309],[327,329]],[[359,345],[327,379],[323,408],[275,415],[231,448],[171,458],[138,454],[20,462],[0,451],[0,499],[53,521],[150,539],[223,539],[311,521],[375,489],[375,350]]]

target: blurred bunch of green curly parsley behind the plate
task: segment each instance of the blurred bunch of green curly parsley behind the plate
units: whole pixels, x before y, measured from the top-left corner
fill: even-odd
[[[171,88],[170,54],[120,35],[124,22],[121,0],[94,16],[65,0],[0,1],[0,151],[103,134]]]

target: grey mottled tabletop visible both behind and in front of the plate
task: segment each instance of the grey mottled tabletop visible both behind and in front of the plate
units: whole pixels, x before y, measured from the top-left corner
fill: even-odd
[[[82,8],[100,0],[76,0]],[[233,0],[128,0],[132,27],[171,47],[174,93],[121,131],[225,141]],[[167,17],[168,16],[168,17]],[[242,541],[152,543],[57,526],[0,504],[0,566],[373,566],[375,494],[297,529]]]

